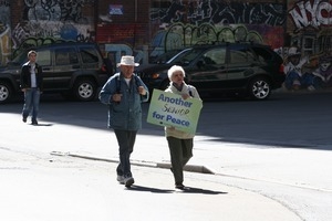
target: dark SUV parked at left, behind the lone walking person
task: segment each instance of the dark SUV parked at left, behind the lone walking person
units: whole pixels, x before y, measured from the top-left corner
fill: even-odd
[[[29,50],[0,69],[0,104],[20,93],[20,71],[28,61]],[[38,52],[37,62],[43,69],[44,93],[61,93],[87,102],[95,98],[97,88],[108,78],[95,43],[53,43],[33,50]]]

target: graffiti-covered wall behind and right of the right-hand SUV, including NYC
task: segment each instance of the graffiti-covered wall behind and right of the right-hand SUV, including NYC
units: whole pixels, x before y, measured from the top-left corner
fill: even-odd
[[[332,87],[332,1],[286,2],[169,0],[151,11],[151,56],[194,44],[258,42],[283,56],[286,90]]]

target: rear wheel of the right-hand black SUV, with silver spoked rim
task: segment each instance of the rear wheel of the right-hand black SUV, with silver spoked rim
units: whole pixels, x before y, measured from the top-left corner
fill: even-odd
[[[256,77],[250,81],[248,93],[252,99],[267,99],[271,94],[271,84],[266,77]]]

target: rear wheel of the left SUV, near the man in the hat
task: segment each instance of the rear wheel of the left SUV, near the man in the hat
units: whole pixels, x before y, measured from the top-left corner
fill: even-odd
[[[73,87],[74,97],[80,102],[91,102],[96,95],[96,84],[89,78],[79,80]]]

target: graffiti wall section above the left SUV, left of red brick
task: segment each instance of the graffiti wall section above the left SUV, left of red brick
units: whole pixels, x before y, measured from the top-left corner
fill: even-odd
[[[94,20],[83,13],[90,2],[93,1],[24,0],[22,18],[11,30],[12,55],[56,41],[93,41]]]

